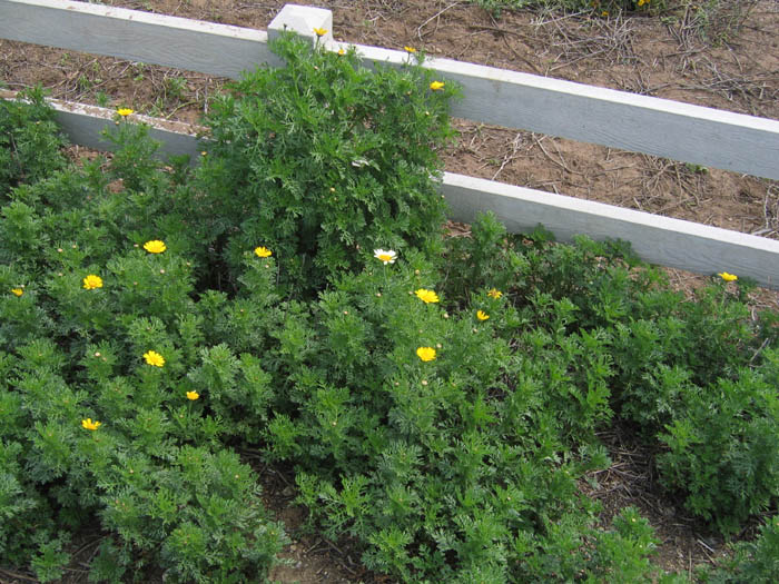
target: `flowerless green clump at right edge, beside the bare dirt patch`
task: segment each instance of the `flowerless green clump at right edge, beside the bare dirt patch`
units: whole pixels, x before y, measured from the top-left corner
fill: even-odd
[[[757,370],[680,395],[673,423],[660,438],[661,481],[687,493],[686,506],[726,532],[766,511],[779,494],[779,353],[767,350]],[[767,370],[767,375],[762,370]]]

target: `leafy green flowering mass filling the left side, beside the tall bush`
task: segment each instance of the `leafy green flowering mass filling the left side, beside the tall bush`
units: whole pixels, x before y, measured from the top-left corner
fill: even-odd
[[[144,127],[114,138],[111,165],[51,168],[0,208],[0,563],[56,580],[99,528],[96,581],[244,582],[285,541],[228,446],[267,375],[206,344],[177,177]]]

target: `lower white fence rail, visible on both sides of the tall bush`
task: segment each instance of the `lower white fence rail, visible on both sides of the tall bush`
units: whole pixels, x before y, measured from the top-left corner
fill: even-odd
[[[0,92],[0,99],[12,97]],[[101,131],[114,126],[116,111],[59,100],[51,105],[73,143],[99,150],[114,146]],[[129,120],[149,123],[150,136],[166,155],[189,155],[194,160],[200,156],[200,128],[138,115]],[[492,210],[512,232],[543,225],[561,241],[578,234],[623,239],[652,264],[698,274],[730,271],[779,288],[779,241],[772,239],[452,172],[444,174],[441,192],[456,221],[472,222],[480,211]]]

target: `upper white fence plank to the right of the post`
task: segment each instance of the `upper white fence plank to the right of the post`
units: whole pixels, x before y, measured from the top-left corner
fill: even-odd
[[[357,46],[366,65],[408,56]],[[779,179],[779,121],[613,89],[430,58],[425,67],[463,87],[452,115]]]

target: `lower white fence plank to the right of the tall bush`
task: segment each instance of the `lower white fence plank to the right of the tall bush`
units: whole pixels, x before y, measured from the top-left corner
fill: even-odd
[[[773,239],[452,172],[444,174],[442,192],[455,221],[471,222],[479,210],[490,209],[512,232],[543,225],[561,241],[578,234],[623,239],[650,264],[698,274],[729,271],[779,288],[779,241]]]

